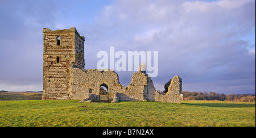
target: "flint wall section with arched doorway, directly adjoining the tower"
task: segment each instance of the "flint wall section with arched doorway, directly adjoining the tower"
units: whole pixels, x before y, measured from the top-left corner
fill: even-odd
[[[112,102],[115,93],[122,89],[118,74],[113,70],[78,69],[72,66],[70,70],[70,99],[89,99],[93,95],[90,100],[100,102],[100,86],[105,84],[108,86],[109,102]]]

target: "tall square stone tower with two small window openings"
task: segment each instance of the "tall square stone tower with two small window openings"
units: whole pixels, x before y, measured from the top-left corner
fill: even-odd
[[[84,69],[84,36],[69,30],[43,28],[43,97],[69,99],[69,65]]]

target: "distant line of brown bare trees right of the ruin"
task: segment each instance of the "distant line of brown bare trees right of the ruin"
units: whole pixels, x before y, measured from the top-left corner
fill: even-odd
[[[251,94],[220,94],[208,92],[182,91],[183,100],[207,100],[207,101],[232,101],[232,102],[255,102],[255,95]]]

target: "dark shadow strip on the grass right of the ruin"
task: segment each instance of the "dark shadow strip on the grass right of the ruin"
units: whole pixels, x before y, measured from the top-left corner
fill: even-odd
[[[238,108],[238,107],[255,107],[255,104],[247,103],[183,103],[192,106],[207,106],[207,107],[225,107],[225,108]]]

